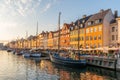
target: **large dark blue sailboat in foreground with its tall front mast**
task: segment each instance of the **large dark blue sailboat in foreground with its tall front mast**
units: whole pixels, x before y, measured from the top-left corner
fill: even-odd
[[[59,13],[59,38],[58,38],[58,51],[60,49],[60,15]],[[61,64],[69,67],[84,67],[86,66],[86,59],[80,54],[76,54],[73,51],[71,52],[49,52],[50,60],[54,63]],[[77,56],[77,58],[75,58]]]

